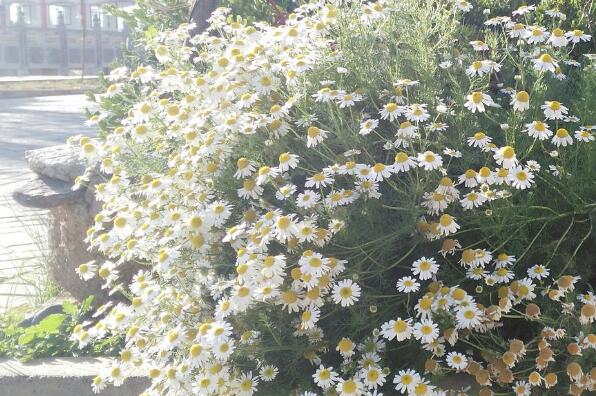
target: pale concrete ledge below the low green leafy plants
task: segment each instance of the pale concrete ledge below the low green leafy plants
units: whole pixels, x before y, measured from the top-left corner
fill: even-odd
[[[95,396],[91,381],[110,363],[107,358],[47,358],[29,363],[0,359],[0,394],[10,396]],[[135,373],[119,387],[100,396],[137,396],[150,384]]]

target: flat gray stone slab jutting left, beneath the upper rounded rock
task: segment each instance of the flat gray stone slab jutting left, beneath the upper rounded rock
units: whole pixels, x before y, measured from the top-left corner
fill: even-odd
[[[15,201],[30,208],[53,208],[79,200],[83,189],[72,190],[72,183],[47,176],[36,176],[12,193]]]

